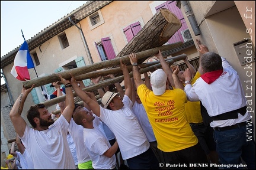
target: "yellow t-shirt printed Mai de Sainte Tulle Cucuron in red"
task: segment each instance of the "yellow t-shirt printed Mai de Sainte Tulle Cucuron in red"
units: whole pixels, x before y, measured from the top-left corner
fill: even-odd
[[[137,87],[137,94],[161,151],[180,151],[198,143],[185,115],[187,97],[184,90],[166,90],[161,96],[155,96],[145,84],[141,84]]]

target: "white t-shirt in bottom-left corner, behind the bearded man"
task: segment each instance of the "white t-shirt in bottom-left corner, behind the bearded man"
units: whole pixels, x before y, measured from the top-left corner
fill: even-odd
[[[16,152],[17,153],[17,162],[20,162],[19,164],[17,164],[19,169],[34,169],[34,163],[32,162],[32,159],[29,155],[29,153],[27,152],[27,149],[25,149],[25,151],[23,152],[23,154],[21,154],[21,152]]]

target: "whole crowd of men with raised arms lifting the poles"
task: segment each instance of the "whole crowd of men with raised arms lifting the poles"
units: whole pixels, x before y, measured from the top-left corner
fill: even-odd
[[[23,87],[9,113],[17,140],[25,148],[20,157],[26,153],[24,159],[34,169],[123,169],[117,166],[119,151],[130,169],[209,169],[212,164],[255,169],[255,140],[253,133],[247,133],[247,125],[253,126],[238,73],[225,58],[197,43],[201,53],[197,71],[187,58],[186,70],[172,69],[159,50],[155,57],[162,68],[150,78],[145,74],[145,81],[136,54],[129,54],[133,78],[120,60],[125,89],[105,90],[101,104],[72,74],[69,80],[59,74],[56,96],[63,95],[59,83],[65,85],[66,95],[59,103],[61,114],[53,120],[44,104],[35,104],[27,111],[33,128],[21,113],[35,85]],[[74,102],[73,91],[84,107]],[[113,143],[104,126],[113,133]]]

